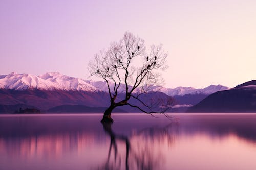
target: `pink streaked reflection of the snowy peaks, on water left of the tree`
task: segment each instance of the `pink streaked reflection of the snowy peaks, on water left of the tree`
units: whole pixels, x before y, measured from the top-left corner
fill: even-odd
[[[66,153],[78,153],[94,143],[95,136],[90,134],[54,134],[36,135],[26,138],[3,140],[0,138],[0,151],[6,155],[23,159],[38,157],[55,159]],[[10,152],[16,151],[16,152]]]

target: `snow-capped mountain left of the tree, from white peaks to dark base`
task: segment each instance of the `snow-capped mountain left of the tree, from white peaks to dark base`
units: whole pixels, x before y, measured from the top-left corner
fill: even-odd
[[[141,95],[141,98],[145,95]],[[148,95],[150,96],[146,99],[168,98],[166,94],[158,92]],[[131,102],[133,103],[133,100]],[[82,79],[58,72],[40,76],[12,72],[0,76],[0,113],[13,113],[19,108],[36,108],[42,112],[64,112],[65,109],[66,112],[103,112],[103,108],[109,104],[108,93]],[[138,112],[138,109],[134,108],[127,110]]]

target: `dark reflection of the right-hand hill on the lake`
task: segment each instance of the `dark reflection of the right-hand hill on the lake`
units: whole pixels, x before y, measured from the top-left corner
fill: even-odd
[[[241,139],[256,144],[256,115],[253,114],[207,114],[191,115],[189,119],[181,116],[181,131],[194,135],[207,132],[214,138],[234,134]]]

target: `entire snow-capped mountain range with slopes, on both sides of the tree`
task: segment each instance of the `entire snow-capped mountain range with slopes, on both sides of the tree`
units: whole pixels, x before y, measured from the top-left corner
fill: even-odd
[[[114,83],[110,82],[109,85],[113,87]],[[193,87],[171,89],[154,86],[152,87],[153,93],[141,97],[148,102],[152,99],[167,99],[167,95],[172,95],[174,98],[172,111],[180,112],[197,104],[210,93],[225,89],[228,87],[221,85],[210,85],[203,89]],[[124,90],[125,85],[121,84],[119,92]],[[120,94],[121,97],[122,95]],[[31,106],[46,112],[53,107],[62,105],[70,105],[70,108],[79,105],[106,107],[109,103],[106,82],[83,80],[62,75],[59,72],[49,72],[39,76],[15,72],[9,75],[0,75],[0,105],[3,105],[3,108],[8,108],[10,112],[13,112],[11,107],[7,107],[10,105],[15,106],[15,109],[16,106]],[[2,109],[2,112],[8,109]],[[138,111],[134,108],[124,107],[124,109],[132,112]]]

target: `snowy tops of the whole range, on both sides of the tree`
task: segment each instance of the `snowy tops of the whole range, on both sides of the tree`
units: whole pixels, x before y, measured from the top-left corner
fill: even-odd
[[[110,82],[109,85],[111,89],[114,88],[114,83]],[[108,86],[104,81],[83,80],[62,75],[59,72],[48,72],[40,76],[35,76],[31,74],[18,74],[16,72],[12,72],[9,75],[0,75],[0,88],[14,90],[40,89],[108,92]],[[203,89],[196,89],[193,87],[165,88],[162,86],[154,86],[151,88],[151,91],[160,91],[169,96],[184,96],[186,94],[209,95],[217,91],[227,89],[229,88],[222,85],[210,85]],[[124,84],[120,85],[119,91],[125,91]]]

